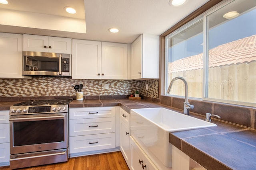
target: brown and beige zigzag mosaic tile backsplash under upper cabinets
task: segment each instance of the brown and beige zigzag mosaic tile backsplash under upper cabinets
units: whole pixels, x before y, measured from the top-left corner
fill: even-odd
[[[85,96],[130,95],[136,90],[142,96],[158,98],[158,79],[153,80],[86,80],[62,77],[0,79],[0,96],[75,96],[72,85],[83,84]],[[109,89],[105,89],[105,84]],[[148,90],[145,86],[148,84]]]

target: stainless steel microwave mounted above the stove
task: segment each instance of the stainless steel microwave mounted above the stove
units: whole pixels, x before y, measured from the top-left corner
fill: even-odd
[[[22,75],[71,77],[71,54],[23,51]]]

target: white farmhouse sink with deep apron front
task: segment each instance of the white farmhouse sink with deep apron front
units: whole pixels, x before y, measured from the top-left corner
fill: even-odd
[[[172,167],[170,132],[217,126],[165,108],[131,109],[130,123],[134,140],[156,166],[166,170]]]

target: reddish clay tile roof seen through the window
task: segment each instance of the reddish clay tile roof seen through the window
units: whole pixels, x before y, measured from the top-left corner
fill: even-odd
[[[256,35],[219,45],[209,50],[209,67],[256,61]],[[203,68],[203,53],[168,63],[168,72]]]

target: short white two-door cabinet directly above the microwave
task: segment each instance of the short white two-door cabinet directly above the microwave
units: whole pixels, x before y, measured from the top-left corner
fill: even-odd
[[[43,35],[23,35],[23,51],[71,54],[72,39]]]

